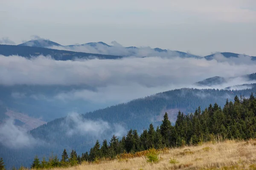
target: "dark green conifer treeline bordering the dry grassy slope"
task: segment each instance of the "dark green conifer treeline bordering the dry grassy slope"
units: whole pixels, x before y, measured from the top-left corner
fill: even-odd
[[[104,140],[102,145],[96,141],[90,152],[81,156],[72,150],[70,156],[64,149],[61,160],[51,156],[40,161],[38,156],[31,168],[67,167],[81,164],[83,161],[93,162],[102,159],[114,159],[121,153],[135,153],[150,148],[179,147],[196,145],[211,140],[250,139],[256,137],[256,98],[253,94],[249,99],[235,97],[234,102],[226,101],[221,109],[216,103],[201,111],[198,107],[194,114],[177,115],[175,125],[171,125],[168,114],[165,113],[162,124],[154,129],[149,125],[141,135],[137,130],[129,130],[126,136],[118,139],[112,136],[110,142]]]

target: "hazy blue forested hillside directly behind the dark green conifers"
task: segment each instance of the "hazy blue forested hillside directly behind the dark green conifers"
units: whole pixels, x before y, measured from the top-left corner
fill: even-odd
[[[30,132],[37,141],[40,141],[34,147],[12,150],[1,146],[1,153],[3,153],[7,164],[12,162],[16,166],[19,166],[22,162],[28,166],[36,154],[49,156],[53,151],[60,156],[63,148],[66,148],[67,151],[74,149],[78,154],[81,154],[89,151],[97,139],[102,142],[103,139],[111,138],[113,133],[119,133],[118,137],[122,137],[125,132],[118,131],[120,129],[123,129],[123,131],[131,128],[137,129],[140,134],[151,123],[156,127],[160,125],[163,114],[165,112],[170,113],[172,109],[177,112],[182,110],[184,114],[187,114],[194,112],[198,106],[204,110],[204,108],[208,108],[210,103],[213,105],[215,102],[223,107],[227,98],[233,100],[236,95],[249,97],[251,92],[256,91],[256,86],[252,86],[252,89],[239,91],[177,89],[86,113],[75,119],[69,116],[55,119],[47,125],[42,125]],[[177,112],[175,112],[175,117]],[[174,116],[169,114],[169,117]],[[102,129],[100,137],[91,133],[81,133],[78,127],[81,127],[80,124],[86,125],[88,122],[96,122],[98,126],[102,124],[102,126],[97,127]],[[175,119],[171,122],[175,122]],[[67,131],[70,129],[72,133],[69,134]],[[26,156],[24,156],[24,153],[26,153]],[[13,162],[13,160],[16,162]]]

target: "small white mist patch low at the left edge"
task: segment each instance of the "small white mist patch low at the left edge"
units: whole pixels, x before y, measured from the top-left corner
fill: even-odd
[[[9,148],[33,147],[39,144],[27,131],[14,125],[14,119],[7,119],[0,124],[0,144]]]

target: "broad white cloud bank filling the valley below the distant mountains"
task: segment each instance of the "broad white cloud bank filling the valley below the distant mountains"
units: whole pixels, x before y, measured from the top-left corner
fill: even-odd
[[[248,83],[247,79],[230,79],[227,83],[212,87],[193,84],[214,76],[236,77],[250,74],[256,72],[255,64],[244,56],[226,59],[220,54],[211,61],[179,57],[56,61],[44,56],[32,59],[1,56],[0,84],[86,85],[93,87],[93,90],[74,87],[69,91],[52,94],[52,98],[44,94],[26,96],[38,100],[85,100],[98,104],[115,104],[176,88],[226,88],[241,85]],[[12,94],[16,98],[24,95],[22,92]]]

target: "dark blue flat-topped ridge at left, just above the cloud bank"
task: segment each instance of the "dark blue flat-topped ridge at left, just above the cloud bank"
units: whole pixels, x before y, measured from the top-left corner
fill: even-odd
[[[81,59],[119,59],[120,56],[104,55],[104,54],[90,54],[83,52],[55,50],[50,48],[29,47],[23,45],[0,45],[0,54],[4,56],[19,55],[21,57],[31,58],[33,56],[50,55],[55,60],[73,60]]]

